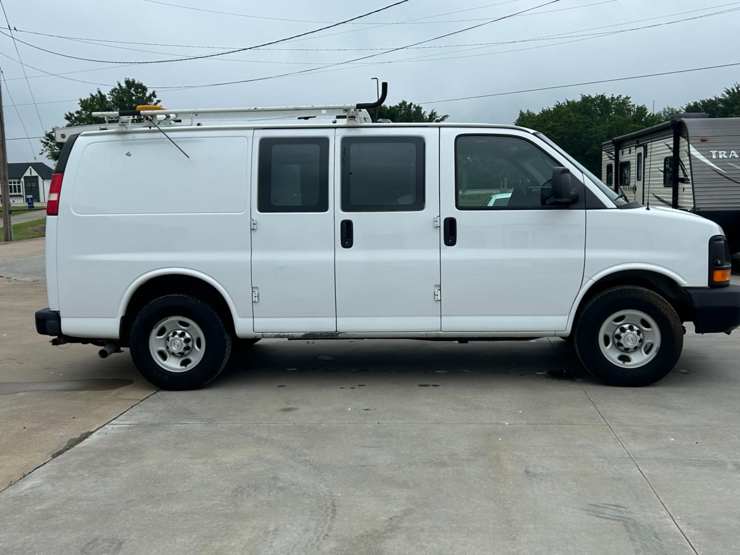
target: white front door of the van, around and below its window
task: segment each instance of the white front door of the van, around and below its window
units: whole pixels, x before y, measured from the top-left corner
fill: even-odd
[[[564,330],[583,279],[586,210],[475,208],[467,199],[485,199],[485,195],[496,192],[501,184],[492,183],[491,178],[471,178],[468,188],[463,190],[462,169],[460,202],[471,207],[460,209],[456,205],[456,140],[471,133],[481,141],[487,137],[530,141],[557,164],[570,169],[574,179],[583,180],[579,169],[525,132],[513,129],[441,130],[442,220],[455,218],[457,221],[457,244],[441,244],[443,332]],[[467,159],[462,153],[457,158],[461,165]],[[481,161],[483,163],[485,161]],[[499,161],[499,166],[502,163]],[[491,167],[495,169],[496,166]],[[539,177],[545,183],[549,179],[548,175]],[[499,178],[497,174],[497,180]],[[480,186],[487,184],[494,189],[480,192]],[[507,188],[513,189],[511,198],[516,198],[519,186],[508,184]]]

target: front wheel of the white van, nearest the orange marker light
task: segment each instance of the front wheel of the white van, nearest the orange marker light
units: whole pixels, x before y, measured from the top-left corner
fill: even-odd
[[[638,286],[607,289],[588,300],[575,331],[583,366],[613,386],[648,386],[681,356],[678,314],[663,297]]]

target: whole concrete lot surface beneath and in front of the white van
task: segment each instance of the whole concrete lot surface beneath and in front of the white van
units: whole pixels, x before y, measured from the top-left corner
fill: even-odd
[[[43,281],[0,306],[3,554],[740,551],[736,334],[689,330],[647,388],[555,339],[264,340],[152,394],[33,333]]]

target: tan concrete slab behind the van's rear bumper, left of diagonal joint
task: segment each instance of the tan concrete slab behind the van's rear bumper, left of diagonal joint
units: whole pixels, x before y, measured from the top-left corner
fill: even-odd
[[[155,391],[128,357],[101,365],[94,347],[36,334],[43,252],[43,238],[0,243],[0,489]]]

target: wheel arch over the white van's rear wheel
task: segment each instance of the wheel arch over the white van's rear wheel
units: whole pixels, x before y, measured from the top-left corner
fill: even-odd
[[[138,277],[127,289],[118,308],[121,344],[129,340],[131,323],[150,301],[162,295],[190,295],[209,303],[234,331],[237,311],[226,289],[213,277],[186,268],[159,269]]]

